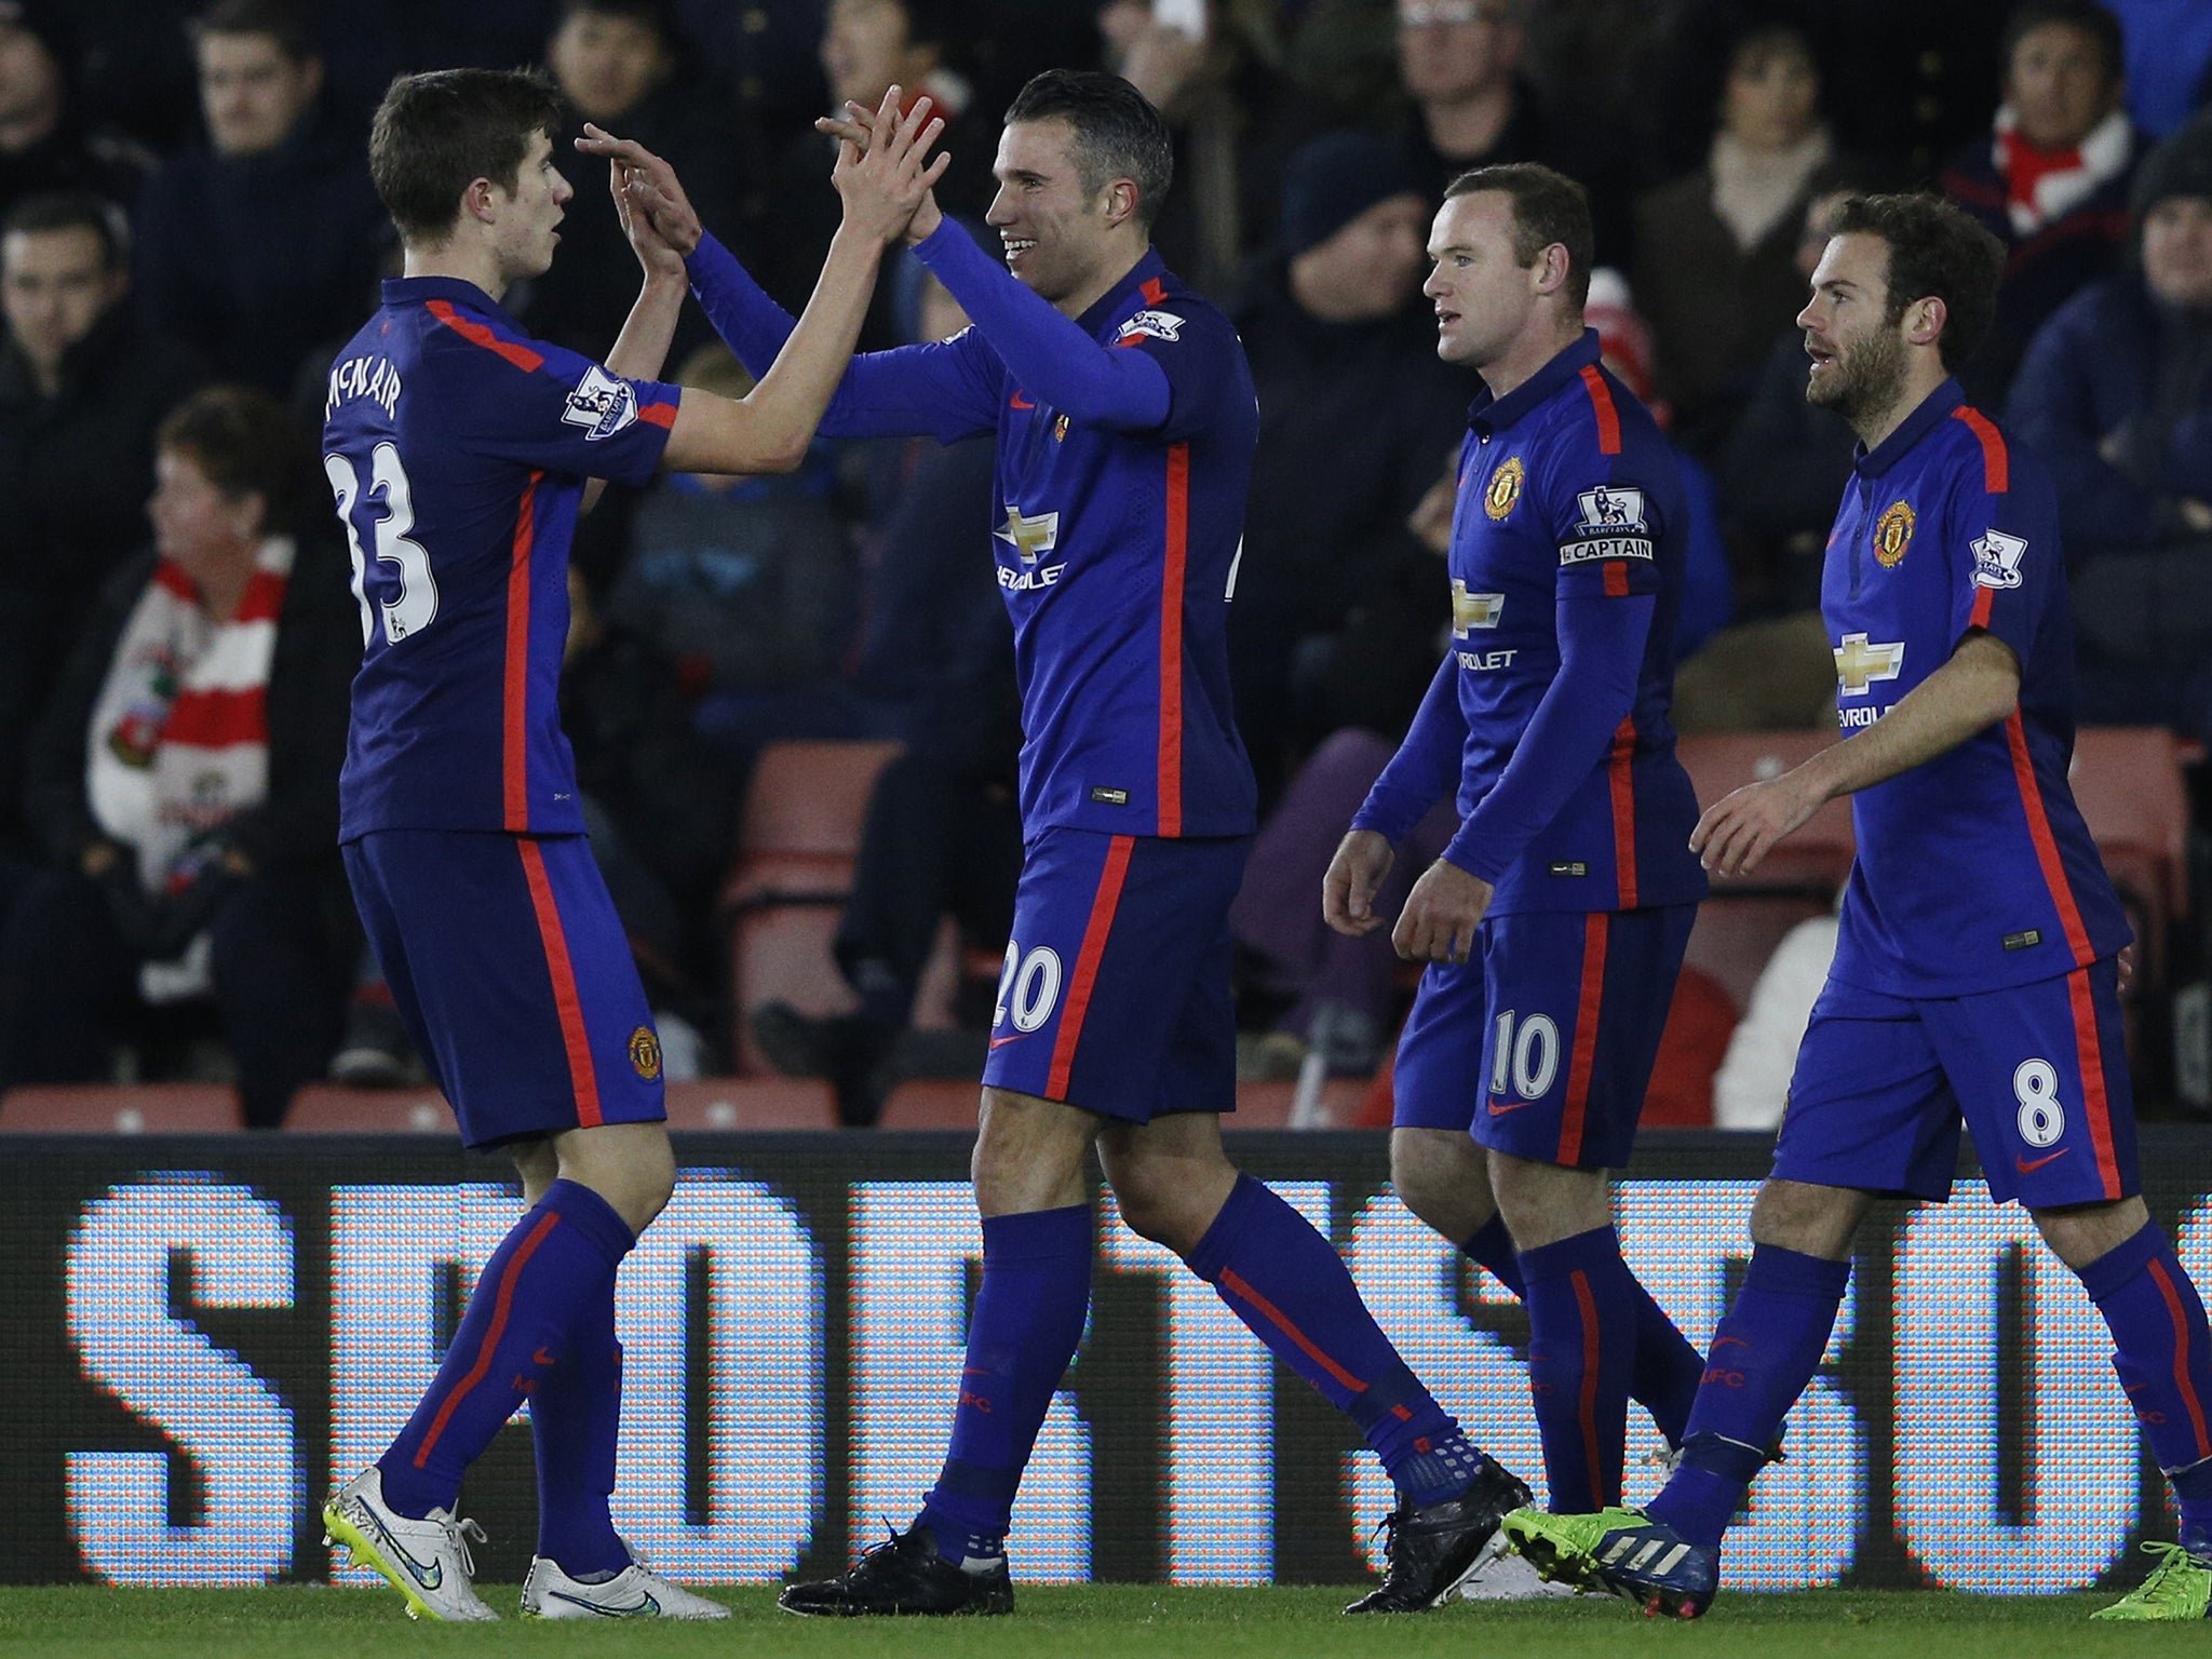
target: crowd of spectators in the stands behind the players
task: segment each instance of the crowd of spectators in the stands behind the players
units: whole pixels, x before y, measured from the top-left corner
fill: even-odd
[[[332,845],[358,639],[312,436],[330,356],[394,268],[365,126],[398,71],[542,64],[575,131],[668,155],[792,310],[836,226],[812,117],[841,100],[896,82],[938,104],[940,197],[987,248],[1000,111],[1031,73],[1106,66],[1166,113],[1157,241],[1237,319],[1261,398],[1232,606],[1272,812],[1239,907],[1248,1011],[1340,1066],[1387,1051],[1402,998],[1383,936],[1327,936],[1314,894],[1451,619],[1473,385],[1438,363],[1418,290],[1433,204],[1471,166],[1546,161],[1590,192],[1590,323],[1701,520],[1686,732],[1832,721],[1818,568],[1851,436],[1805,405],[1792,319],[1847,195],[1933,188],[2008,248],[1966,380],[2057,476],[2084,719],[2212,739],[2212,7],[1203,15],[1194,35],[1146,0],[0,0],[0,1086],[206,1066],[212,1044],[250,1121],[276,1124],[341,1048],[378,1075],[389,1033]],[[637,263],[597,168],[564,170],[560,257],[507,305],[602,356]],[[905,261],[863,343],[960,325]],[[697,310],[666,374],[748,385]],[[852,1011],[757,1009],[770,1060],[832,1075],[865,1121],[940,916],[1002,945],[1002,518],[987,440],[918,440],[821,442],[790,478],[664,476],[582,526],[564,721],[664,1035],[703,1064],[732,1062],[717,902],[770,743],[905,745],[836,931]]]

